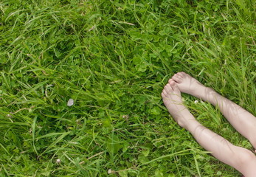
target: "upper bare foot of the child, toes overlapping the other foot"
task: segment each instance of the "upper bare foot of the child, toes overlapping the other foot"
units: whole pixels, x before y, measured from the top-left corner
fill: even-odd
[[[194,97],[198,97],[203,100],[207,100],[207,95],[210,94],[210,91],[213,91],[185,72],[178,72],[177,74],[174,74],[172,79],[169,80],[169,83],[172,82],[172,80],[177,83],[181,92],[191,94]]]

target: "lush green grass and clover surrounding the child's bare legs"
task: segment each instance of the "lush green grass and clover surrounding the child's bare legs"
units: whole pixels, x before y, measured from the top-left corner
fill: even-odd
[[[160,94],[184,71],[256,114],[255,10],[249,0],[1,1],[0,176],[240,176]],[[195,100],[184,95],[203,125],[252,148]]]

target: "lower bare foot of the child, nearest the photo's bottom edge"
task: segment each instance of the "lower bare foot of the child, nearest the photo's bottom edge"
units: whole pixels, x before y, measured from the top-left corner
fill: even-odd
[[[190,111],[184,106],[181,100],[181,91],[177,86],[178,84],[170,79],[169,83],[162,91],[162,99],[166,108],[173,116],[175,121],[183,128],[187,129],[187,123],[189,120],[196,120]]]

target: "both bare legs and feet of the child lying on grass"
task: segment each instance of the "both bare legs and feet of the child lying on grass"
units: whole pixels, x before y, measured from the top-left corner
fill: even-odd
[[[182,103],[181,92],[218,106],[226,119],[249,139],[253,147],[256,147],[256,117],[185,72],[174,74],[162,91],[163,102],[173,119],[182,128],[190,131],[204,149],[210,151],[216,159],[234,167],[243,176],[255,176],[255,154],[243,147],[232,145],[222,136],[201,125]]]

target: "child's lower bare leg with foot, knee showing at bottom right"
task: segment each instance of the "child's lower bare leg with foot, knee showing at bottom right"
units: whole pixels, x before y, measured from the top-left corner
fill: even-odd
[[[183,105],[181,92],[173,80],[170,80],[165,86],[162,91],[162,98],[176,122],[181,127],[186,128],[187,131],[190,131],[202,147],[212,152],[212,156],[215,156],[225,164],[235,167],[246,177],[255,176],[255,155],[245,148],[232,145],[223,137],[201,125]]]

